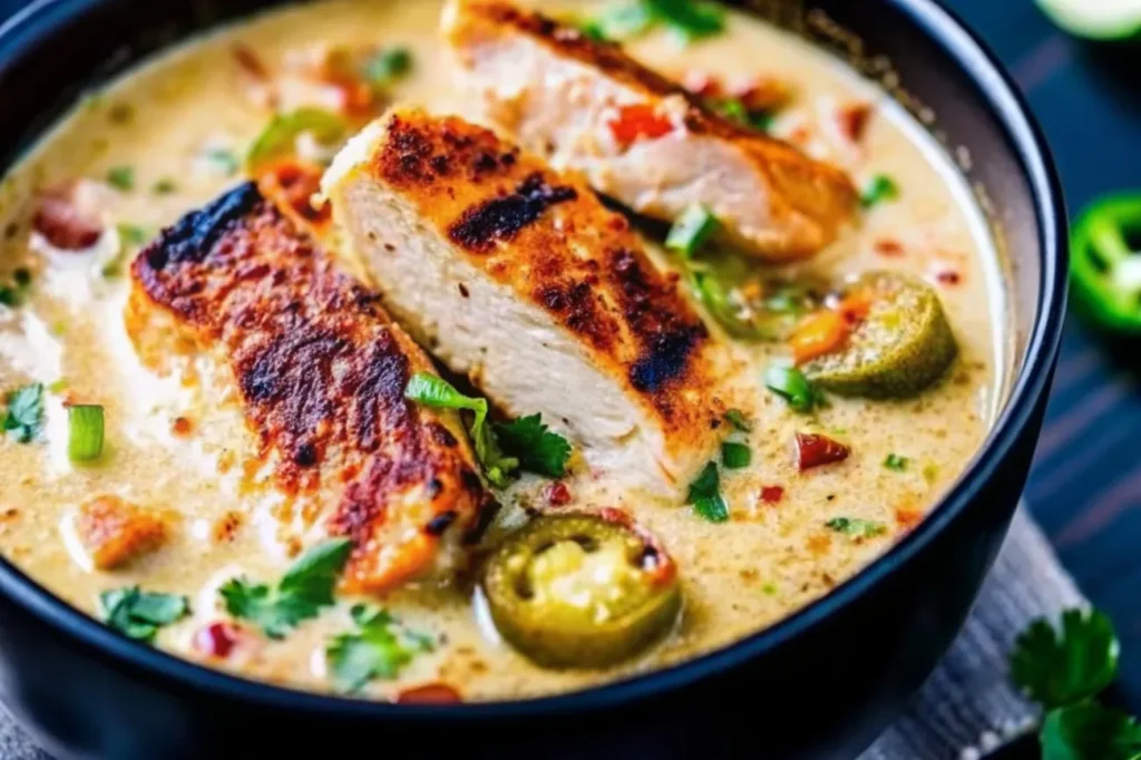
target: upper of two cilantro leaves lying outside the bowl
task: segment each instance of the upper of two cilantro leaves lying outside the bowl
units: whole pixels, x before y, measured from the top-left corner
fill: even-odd
[[[1119,646],[1114,623],[1098,612],[1062,613],[1061,631],[1034,621],[1014,641],[1011,677],[1046,709],[1091,697],[1117,674]]]

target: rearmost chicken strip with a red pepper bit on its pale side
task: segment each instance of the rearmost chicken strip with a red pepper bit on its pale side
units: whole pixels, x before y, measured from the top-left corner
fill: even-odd
[[[711,113],[616,45],[495,0],[453,0],[444,33],[493,126],[640,213],[702,205],[726,242],[776,262],[816,253],[855,215],[842,171]]]

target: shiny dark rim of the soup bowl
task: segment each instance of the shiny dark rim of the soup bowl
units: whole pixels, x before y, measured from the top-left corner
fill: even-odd
[[[0,24],[0,71],[18,59],[29,45],[39,42],[58,25],[81,16],[100,2],[33,0],[16,11]],[[639,702],[737,668],[851,606],[947,529],[1010,455],[1049,389],[1051,370],[1061,342],[1067,300],[1068,223],[1061,183],[1045,136],[1026,98],[997,57],[956,14],[941,5],[941,0],[882,2],[901,11],[913,26],[955,62],[979,88],[980,96],[1004,128],[1010,148],[1023,167],[1030,186],[1042,240],[1041,289],[1026,361],[1012,383],[1005,407],[971,464],[915,529],[832,591],[769,628],[659,670],[567,694],[453,705],[355,700],[291,689],[215,670],[121,636],[39,585],[3,557],[0,557],[0,593],[50,628],[103,655],[114,666],[128,666],[151,678],[162,677],[178,687],[215,693],[266,709],[337,718],[406,721],[534,718]]]

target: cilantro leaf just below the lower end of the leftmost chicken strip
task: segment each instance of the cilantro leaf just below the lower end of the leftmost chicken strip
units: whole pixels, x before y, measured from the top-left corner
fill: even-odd
[[[253,622],[272,639],[281,639],[333,604],[337,576],[351,550],[348,539],[325,541],[301,555],[275,588],[238,577],[222,584],[218,593],[230,615]]]

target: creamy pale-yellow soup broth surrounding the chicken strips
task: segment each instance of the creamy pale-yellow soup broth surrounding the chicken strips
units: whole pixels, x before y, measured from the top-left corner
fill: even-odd
[[[544,8],[580,18],[602,13],[602,6],[586,3]],[[322,82],[306,82],[305,62],[326,60],[330,51],[407,51],[407,70],[397,60],[396,73],[386,74],[383,102],[366,104],[372,115],[388,102],[406,102],[477,118],[453,87],[440,11],[431,0],[335,0],[227,27],[92,94],[13,170],[0,193],[0,285],[7,293],[0,298],[0,390],[7,393],[11,428],[0,438],[3,555],[100,618],[116,600],[108,591],[138,587],[185,596],[185,613],[160,613],[153,628],[135,631],[138,638],[156,632],[155,646],[181,656],[305,689],[343,687],[330,673],[326,649],[335,637],[359,630],[355,605],[382,607],[399,621],[388,630],[402,644],[383,650],[391,655],[387,664],[354,684],[356,689],[389,700],[444,685],[466,701],[485,701],[578,689],[728,645],[826,595],[922,520],[976,454],[1002,401],[1003,346],[996,337],[1004,307],[987,225],[948,156],[884,92],[799,39],[729,11],[719,34],[680,45],[659,26],[630,39],[625,49],[710,91],[750,83],[778,88],[779,103],[766,105],[771,134],[842,168],[857,187],[890,179],[897,193],[869,199],[857,231],[779,274],[839,283],[889,270],[925,282],[958,343],[946,377],[906,399],[828,394],[826,404],[796,411],[766,385],[769,369],[787,357],[787,343],[735,340],[710,318],[714,335],[741,361],[725,381],[750,428],[727,434],[751,454],[747,464],[721,471],[726,522],[576,470],[574,459],[557,486],[531,475],[500,492],[504,507],[493,534],[520,524],[528,508],[605,506],[633,515],[672,556],[683,599],[675,624],[609,668],[533,664],[496,634],[470,575],[446,584],[413,582],[371,598],[341,595],[277,638],[227,612],[219,587],[235,576],[272,584],[305,536],[283,525],[281,495],[258,480],[250,464],[258,461],[257,439],[236,390],[217,380],[213,361],[194,358],[193,377],[185,367],[162,374],[140,361],[124,328],[124,254],[240,181],[241,156],[273,115],[267,82],[282,72],[302,73],[278,89],[278,97],[291,100],[278,102],[280,110],[298,103],[343,106],[337,97],[322,102],[329,95]],[[94,207],[118,240],[103,235],[81,253],[46,242],[37,219],[44,196],[58,188],[67,188],[73,204]],[[646,234],[661,240],[653,227]],[[675,256],[650,244],[661,267],[680,272]],[[345,257],[346,268],[367,277],[356,265]],[[34,399],[17,391],[34,383],[42,383],[42,425],[19,409]],[[67,407],[74,404],[104,410],[105,440],[91,462],[76,462],[68,452],[75,431]],[[849,455],[802,471],[792,447],[798,434],[824,436]],[[107,563],[92,556],[78,525],[81,508],[90,510],[100,498],[161,523],[161,547],[102,569]],[[148,543],[146,535],[136,539]],[[147,628],[146,620],[141,624]]]

